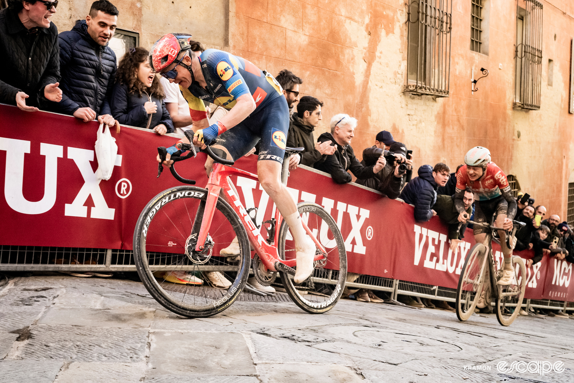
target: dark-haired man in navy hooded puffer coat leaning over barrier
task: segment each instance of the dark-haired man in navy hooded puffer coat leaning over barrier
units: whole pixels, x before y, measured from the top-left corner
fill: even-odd
[[[451,169],[443,163],[438,163],[432,168],[430,165],[422,165],[418,168],[418,177],[414,177],[402,189],[401,199],[414,205],[414,219],[417,222],[426,222],[436,211],[432,210],[436,202],[436,189],[444,186]]]

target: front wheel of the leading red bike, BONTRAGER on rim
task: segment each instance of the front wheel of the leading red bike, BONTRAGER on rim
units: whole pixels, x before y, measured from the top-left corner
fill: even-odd
[[[155,196],[142,210],[134,231],[139,278],[162,306],[176,314],[203,318],[233,303],[249,276],[247,233],[221,197],[209,228],[206,249],[197,254],[206,189],[179,186]],[[227,261],[219,251],[238,238],[240,257]],[[186,274],[187,273],[187,274]]]

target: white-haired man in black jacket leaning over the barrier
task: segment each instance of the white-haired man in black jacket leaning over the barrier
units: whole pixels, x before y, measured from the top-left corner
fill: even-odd
[[[362,165],[355,157],[351,148],[351,140],[355,137],[357,121],[348,114],[336,114],[331,118],[331,133],[323,133],[319,136],[319,142],[331,141],[336,146],[335,153],[327,156],[325,161],[315,163],[315,169],[329,173],[333,181],[338,184],[351,182],[352,177],[347,172],[350,170],[358,179],[374,177],[385,167],[385,157],[381,156],[373,166]]]

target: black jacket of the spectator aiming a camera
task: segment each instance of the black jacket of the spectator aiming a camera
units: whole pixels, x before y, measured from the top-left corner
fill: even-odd
[[[360,161],[360,163],[363,166],[374,166],[383,152],[385,156],[389,154],[388,150],[377,148],[377,146],[371,146],[371,148],[364,149],[363,161]],[[356,183],[371,189],[378,190],[390,199],[395,199],[401,194],[403,185],[410,181],[410,177],[413,174],[413,169],[406,171],[405,175],[402,177],[395,177],[394,169],[395,167],[393,164],[387,163],[385,167],[382,168],[382,170],[379,171],[374,177],[363,180],[356,180]]]

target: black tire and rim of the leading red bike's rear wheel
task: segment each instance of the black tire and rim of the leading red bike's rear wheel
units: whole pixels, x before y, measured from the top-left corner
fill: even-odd
[[[339,250],[338,251],[338,253],[339,253],[339,274],[338,274],[338,283],[335,285],[335,288],[333,289],[333,293],[329,297],[329,300],[331,300],[331,302],[326,304],[325,307],[318,307],[318,308],[313,307],[313,305],[309,305],[296,292],[296,288],[293,285],[293,281],[289,278],[288,274],[283,273],[283,272],[280,272],[279,274],[281,276],[281,282],[283,284],[283,287],[285,288],[285,291],[288,293],[291,300],[298,307],[300,307],[304,311],[307,311],[309,314],[323,314],[323,313],[331,310],[333,307],[335,307],[335,304],[337,304],[340,297],[343,295],[343,290],[345,288],[345,281],[347,279],[347,251],[345,249],[345,243],[344,243],[343,235],[341,234],[339,227],[335,223],[335,220],[333,219],[333,217],[327,211],[325,211],[325,209],[322,206],[320,206],[319,204],[312,203],[312,202],[300,202],[297,204],[297,208],[298,208],[298,211],[300,214],[302,212],[304,212],[304,209],[306,207],[315,208],[316,209],[315,212],[320,211],[323,216],[321,216],[319,214],[317,214],[317,215],[319,215],[321,219],[325,220],[325,222],[329,226],[329,229],[331,229],[333,236],[336,237],[333,239],[336,239],[337,248]],[[335,229],[335,230],[333,230],[333,229]],[[286,231],[287,231],[287,224],[284,220],[281,223],[281,227],[280,227],[280,231],[279,231],[279,235],[278,235],[280,243],[277,244],[277,250],[278,250],[278,253],[280,253],[280,256],[281,256],[281,249],[282,250],[285,249]],[[334,294],[334,296],[333,296],[333,294]],[[327,301],[329,301],[329,300],[327,300]],[[319,304],[317,304],[317,305],[319,305]]]

